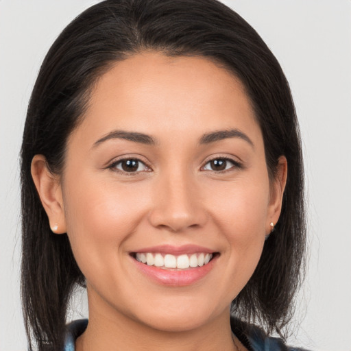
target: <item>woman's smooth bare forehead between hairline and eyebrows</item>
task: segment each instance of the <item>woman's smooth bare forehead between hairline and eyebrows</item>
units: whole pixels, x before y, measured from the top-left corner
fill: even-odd
[[[80,128],[95,135],[113,129],[165,135],[258,125],[232,73],[206,58],[152,51],[116,62],[99,78]]]

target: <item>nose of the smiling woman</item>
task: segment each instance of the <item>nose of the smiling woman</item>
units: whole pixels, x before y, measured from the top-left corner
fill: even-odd
[[[161,178],[154,191],[149,221],[171,232],[202,228],[208,219],[199,184],[180,173]]]

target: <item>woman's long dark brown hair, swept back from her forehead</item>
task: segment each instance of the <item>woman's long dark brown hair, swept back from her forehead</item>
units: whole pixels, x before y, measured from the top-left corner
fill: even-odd
[[[66,140],[84,118],[95,81],[111,64],[143,50],[202,56],[226,67],[246,88],[261,126],[269,176],[289,165],[282,213],[232,313],[282,334],[291,319],[305,253],[303,166],[289,84],[276,58],[241,16],[216,0],[107,0],[84,11],[53,43],[27,110],[21,150],[21,291],[29,345],[62,350],[66,309],[84,276],[69,240],[52,234],[30,167],[43,154],[62,172]]]

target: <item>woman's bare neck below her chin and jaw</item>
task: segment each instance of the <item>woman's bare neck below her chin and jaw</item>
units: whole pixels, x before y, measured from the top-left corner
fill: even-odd
[[[167,331],[152,328],[117,311],[106,313],[108,311],[101,307],[95,310],[89,305],[88,327],[77,339],[76,351],[246,350],[232,335],[229,308],[197,328]]]

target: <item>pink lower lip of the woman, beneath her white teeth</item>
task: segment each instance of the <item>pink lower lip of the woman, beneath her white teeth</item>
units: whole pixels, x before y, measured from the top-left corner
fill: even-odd
[[[186,287],[187,285],[192,285],[198,280],[204,278],[211,269],[213,269],[213,266],[217,261],[217,255],[213,257],[207,265],[182,270],[162,269],[160,267],[145,265],[145,263],[136,261],[135,258],[132,258],[132,260],[142,274],[151,278],[158,284],[167,285],[169,287]]]

